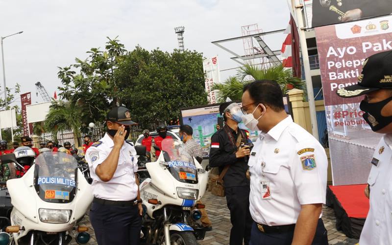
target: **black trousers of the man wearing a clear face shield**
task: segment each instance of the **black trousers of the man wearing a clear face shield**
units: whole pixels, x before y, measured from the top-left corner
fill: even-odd
[[[225,188],[227,207],[230,210],[230,245],[249,244],[252,217],[249,212],[249,186]]]

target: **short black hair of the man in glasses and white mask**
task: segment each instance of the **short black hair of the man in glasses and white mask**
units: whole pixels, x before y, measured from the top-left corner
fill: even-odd
[[[268,105],[275,112],[285,109],[282,89],[275,81],[256,80],[246,84],[243,92],[245,91],[248,91],[250,98],[256,103]]]

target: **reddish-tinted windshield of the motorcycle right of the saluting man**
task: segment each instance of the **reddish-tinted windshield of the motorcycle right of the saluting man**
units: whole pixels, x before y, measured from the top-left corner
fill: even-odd
[[[196,165],[184,143],[176,139],[164,139],[162,150],[169,171],[176,180],[190,184],[198,182]]]

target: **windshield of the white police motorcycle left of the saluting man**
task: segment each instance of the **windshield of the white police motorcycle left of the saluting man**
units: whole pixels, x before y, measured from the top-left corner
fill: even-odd
[[[76,176],[76,159],[67,153],[45,151],[35,160],[35,190],[46,202],[72,202]]]

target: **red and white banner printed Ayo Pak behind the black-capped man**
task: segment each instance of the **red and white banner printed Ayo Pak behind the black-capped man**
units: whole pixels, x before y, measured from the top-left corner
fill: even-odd
[[[336,91],[358,82],[368,56],[392,50],[391,23],[385,16],[315,29],[334,185],[367,182],[381,135],[362,118],[364,97],[344,99]]]

